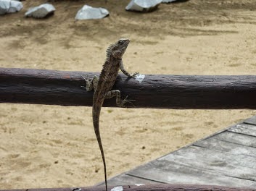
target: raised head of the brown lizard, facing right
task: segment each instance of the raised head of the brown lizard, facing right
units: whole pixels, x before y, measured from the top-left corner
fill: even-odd
[[[107,54],[112,54],[115,59],[122,59],[129,43],[130,40],[128,38],[120,38],[119,41],[109,47]]]

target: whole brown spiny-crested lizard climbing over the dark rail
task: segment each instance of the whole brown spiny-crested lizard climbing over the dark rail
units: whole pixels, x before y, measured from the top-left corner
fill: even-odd
[[[102,154],[102,161],[104,165],[104,179],[105,186],[107,191],[107,168],[104,157],[104,150],[102,146],[102,139],[99,132],[99,115],[102,109],[102,104],[104,99],[112,98],[116,96],[117,106],[123,107],[125,103],[131,103],[131,100],[128,100],[128,96],[125,99],[121,100],[120,90],[112,90],[113,85],[115,84],[115,80],[117,79],[117,75],[119,70],[123,72],[127,77],[136,77],[139,72],[135,72],[130,74],[123,67],[123,54],[130,43],[128,38],[120,38],[119,41],[110,45],[106,51],[106,60],[102,67],[102,72],[99,77],[94,76],[92,80],[86,80],[86,90],[91,91],[94,89],[94,98],[93,98],[93,106],[92,106],[92,116],[93,116],[93,124],[94,124],[94,132],[96,135],[96,140],[99,144],[99,149]]]

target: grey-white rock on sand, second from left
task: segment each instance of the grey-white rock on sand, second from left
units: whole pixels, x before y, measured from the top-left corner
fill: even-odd
[[[55,10],[52,4],[41,4],[28,9],[28,12],[25,12],[25,17],[44,18],[53,14]]]

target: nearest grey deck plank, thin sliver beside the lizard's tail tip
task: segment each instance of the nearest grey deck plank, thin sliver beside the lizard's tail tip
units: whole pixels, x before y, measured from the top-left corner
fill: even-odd
[[[96,184],[96,186],[104,185],[105,182],[100,182],[99,184]],[[126,184],[156,184],[159,182],[149,180],[149,179],[143,179],[141,177],[133,177],[128,174],[120,174],[116,177],[112,177],[107,180],[107,184],[111,186],[117,186],[117,185],[126,185]]]

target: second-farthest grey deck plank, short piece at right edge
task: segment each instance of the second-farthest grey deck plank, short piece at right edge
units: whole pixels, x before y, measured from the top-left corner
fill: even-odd
[[[228,131],[255,136],[256,140],[256,126],[254,124],[236,124],[234,127],[229,128]]]

